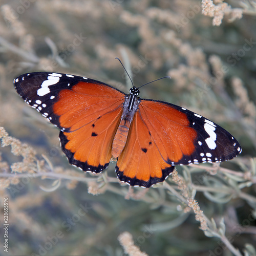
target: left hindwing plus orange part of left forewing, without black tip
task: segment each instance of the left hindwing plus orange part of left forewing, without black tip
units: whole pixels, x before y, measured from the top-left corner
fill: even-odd
[[[108,167],[123,98],[119,91],[93,83],[60,91],[53,112],[59,116],[61,146],[71,164],[96,173]]]

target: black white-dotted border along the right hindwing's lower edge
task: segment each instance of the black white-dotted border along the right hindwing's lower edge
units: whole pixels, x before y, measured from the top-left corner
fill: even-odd
[[[171,166],[163,169],[161,178],[151,177],[148,181],[144,181],[144,180],[139,180],[136,177],[130,178],[130,177],[123,175],[123,172],[121,172],[119,170],[118,166],[116,165],[116,175],[121,182],[125,182],[125,183],[129,184],[130,186],[139,186],[139,187],[148,188],[157,183],[163,182],[174,171],[174,168],[175,168],[175,166],[171,165]]]

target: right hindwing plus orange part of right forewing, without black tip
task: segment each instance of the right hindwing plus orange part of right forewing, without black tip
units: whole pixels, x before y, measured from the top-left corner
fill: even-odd
[[[118,178],[145,187],[163,181],[175,162],[195,151],[196,138],[184,113],[162,102],[141,100],[117,161]]]

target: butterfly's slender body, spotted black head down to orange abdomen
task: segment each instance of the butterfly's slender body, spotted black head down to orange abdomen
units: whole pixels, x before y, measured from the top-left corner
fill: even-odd
[[[123,103],[123,113],[112,143],[112,160],[115,161],[123,151],[127,141],[129,129],[136,111],[139,108],[140,98],[139,90],[132,88],[130,94],[125,95]]]

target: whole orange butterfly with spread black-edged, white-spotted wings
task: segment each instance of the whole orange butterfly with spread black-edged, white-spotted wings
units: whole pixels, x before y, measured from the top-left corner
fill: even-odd
[[[14,79],[17,93],[60,129],[70,164],[116,174],[131,186],[164,181],[175,165],[230,160],[238,141],[218,124],[181,106],[138,97],[109,84],[69,74],[35,72]]]

